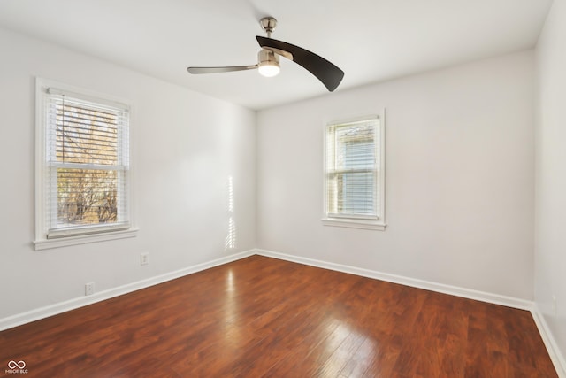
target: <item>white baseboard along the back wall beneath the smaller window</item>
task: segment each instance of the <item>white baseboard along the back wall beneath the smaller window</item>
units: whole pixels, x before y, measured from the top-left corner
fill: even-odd
[[[322,267],[325,269],[335,270],[342,273],[356,274],[363,277],[373,278],[376,280],[400,283],[402,285],[410,286],[413,288],[436,291],[439,293],[449,294],[456,297],[475,299],[478,301],[487,302],[494,305],[505,305],[508,307],[518,308],[527,311],[531,311],[533,306],[533,303],[531,301],[516,297],[506,297],[498,294],[487,293],[485,291],[459,288],[457,286],[445,285],[443,283],[418,280],[415,278],[405,277],[402,275],[388,274],[374,270],[363,269],[356,266],[346,266],[346,265],[330,263],[312,258],[302,258],[299,256],[287,255],[285,253],[280,253],[275,251],[256,250],[256,254],[269,258],[279,258],[308,266]]]

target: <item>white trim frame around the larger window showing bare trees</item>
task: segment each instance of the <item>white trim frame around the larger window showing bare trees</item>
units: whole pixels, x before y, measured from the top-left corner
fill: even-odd
[[[45,164],[45,96],[43,93],[46,92],[48,88],[57,88],[64,90],[65,92],[73,93],[80,98],[87,100],[94,100],[99,103],[106,104],[126,104],[130,108],[130,126],[129,126],[129,137],[132,141],[132,124],[133,122],[133,104],[125,101],[122,98],[109,96],[106,94],[96,93],[91,90],[80,89],[77,87],[69,86],[57,81],[50,81],[37,77],[35,80],[35,239],[34,246],[36,251],[46,250],[50,248],[65,247],[70,245],[84,244],[84,243],[96,243],[103,242],[107,240],[122,239],[128,237],[135,237],[137,235],[138,229],[134,227],[134,193],[133,193],[133,183],[134,183],[134,170],[130,167],[129,180],[130,183],[127,186],[127,196],[129,201],[128,206],[128,217],[129,223],[126,225],[120,225],[114,229],[109,230],[108,227],[99,228],[99,232],[96,229],[91,229],[86,231],[84,234],[77,235],[65,235],[65,231],[60,232],[60,235],[65,235],[65,237],[50,238],[47,237],[47,224],[46,224],[46,188],[43,185],[43,178],[45,174],[48,174],[48,167]],[[133,143],[129,143],[129,159],[133,161]],[[103,231],[103,232],[100,232]]]

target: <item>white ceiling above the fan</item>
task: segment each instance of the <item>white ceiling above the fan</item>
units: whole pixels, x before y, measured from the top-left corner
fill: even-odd
[[[328,93],[293,62],[281,73],[190,75],[256,63],[257,22],[332,61],[337,91],[532,48],[552,0],[2,0],[0,27],[251,109]],[[6,53],[6,51],[2,51]]]

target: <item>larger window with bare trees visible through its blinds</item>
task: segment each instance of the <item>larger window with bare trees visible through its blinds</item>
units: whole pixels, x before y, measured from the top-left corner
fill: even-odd
[[[133,236],[129,113],[38,79],[36,249]]]

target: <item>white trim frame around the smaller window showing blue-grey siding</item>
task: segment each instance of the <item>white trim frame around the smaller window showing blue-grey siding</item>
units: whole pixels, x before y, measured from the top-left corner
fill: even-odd
[[[379,182],[379,193],[381,196],[379,197],[379,205],[381,209],[381,213],[379,214],[378,218],[364,218],[359,216],[344,216],[344,215],[337,215],[331,216],[330,214],[326,213],[327,209],[327,188],[326,188],[326,128],[328,125],[331,124],[338,124],[338,123],[348,123],[348,122],[356,122],[360,120],[369,120],[371,118],[378,118],[379,119],[379,158],[381,161],[381,166],[378,171],[378,182]],[[323,216],[322,216],[322,224],[323,226],[331,226],[331,227],[342,227],[342,228],[362,228],[362,229],[371,229],[371,230],[379,230],[385,231],[386,229],[386,109],[383,109],[378,115],[369,115],[365,117],[358,117],[354,119],[348,120],[338,120],[327,122],[324,127],[324,148],[323,148],[323,188],[324,188],[324,196],[323,196]],[[378,148],[378,146],[376,146]]]

